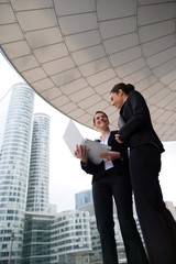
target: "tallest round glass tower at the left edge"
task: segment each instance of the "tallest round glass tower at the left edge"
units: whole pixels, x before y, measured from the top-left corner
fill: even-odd
[[[34,91],[26,84],[14,85],[0,158],[0,260],[3,264],[21,263],[33,106]]]

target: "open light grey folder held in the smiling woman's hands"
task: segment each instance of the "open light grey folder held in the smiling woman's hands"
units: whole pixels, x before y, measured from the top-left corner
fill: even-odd
[[[84,139],[72,120],[69,120],[67,124],[63,139],[74,156],[76,145],[86,146],[86,148],[89,150],[88,157],[95,164],[99,164],[102,161],[100,153],[108,153],[111,150],[109,145]]]

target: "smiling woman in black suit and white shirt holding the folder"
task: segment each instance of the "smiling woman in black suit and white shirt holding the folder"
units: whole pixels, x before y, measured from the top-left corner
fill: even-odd
[[[75,154],[81,160],[81,168],[92,175],[92,197],[103,264],[119,263],[113,230],[112,197],[117,206],[128,263],[147,264],[148,261],[133,218],[127,148],[116,141],[117,131],[110,132],[109,120],[105,112],[96,112],[94,125],[101,134],[98,141],[110,145],[111,151],[101,154],[103,161],[98,165],[89,161],[88,150],[81,145],[76,146]]]

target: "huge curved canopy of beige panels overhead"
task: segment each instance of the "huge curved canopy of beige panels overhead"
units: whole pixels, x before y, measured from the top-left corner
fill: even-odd
[[[117,82],[145,97],[162,141],[176,140],[175,0],[1,0],[0,45],[26,82],[92,127]]]

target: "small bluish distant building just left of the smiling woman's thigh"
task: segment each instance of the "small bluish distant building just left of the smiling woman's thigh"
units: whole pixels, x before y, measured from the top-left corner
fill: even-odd
[[[80,207],[92,202],[92,193],[91,190],[82,190],[75,195],[75,208],[79,209]]]

